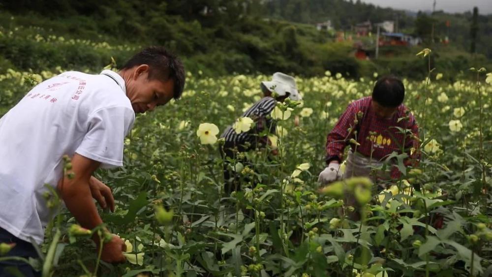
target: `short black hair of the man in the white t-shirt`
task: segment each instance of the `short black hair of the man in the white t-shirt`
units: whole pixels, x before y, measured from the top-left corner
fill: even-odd
[[[150,67],[149,79],[160,79],[167,81],[172,78],[174,81],[174,99],[179,99],[184,89],[184,66],[181,60],[161,46],[151,46],[135,54],[123,69],[130,69],[141,64],[148,64]]]

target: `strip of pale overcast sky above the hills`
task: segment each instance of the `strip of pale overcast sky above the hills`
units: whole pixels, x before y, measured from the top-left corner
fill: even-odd
[[[392,7],[411,11],[432,10],[433,0],[362,0],[381,7]],[[492,0],[436,0],[435,9],[445,12],[471,11],[478,7],[480,14],[492,13]]]

